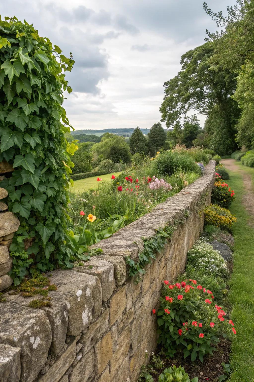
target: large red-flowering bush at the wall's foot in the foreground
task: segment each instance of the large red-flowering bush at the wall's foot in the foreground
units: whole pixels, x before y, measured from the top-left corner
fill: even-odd
[[[173,358],[182,351],[191,361],[198,357],[203,362],[206,354],[212,354],[219,337],[230,335],[232,321],[226,321],[225,312],[213,302],[212,291],[196,280],[170,285],[165,280],[157,312],[158,342],[166,356]],[[155,313],[155,311],[153,311]],[[233,328],[234,333],[235,329]]]

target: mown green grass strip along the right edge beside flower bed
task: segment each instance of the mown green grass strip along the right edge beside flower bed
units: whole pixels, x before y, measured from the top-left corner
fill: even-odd
[[[242,166],[239,172],[230,172],[228,185],[234,189],[236,200],[232,203],[231,212],[236,215],[233,235],[235,237],[234,266],[230,281],[228,302],[232,307],[230,314],[235,323],[236,338],[232,343],[230,364],[232,375],[230,382],[254,381],[254,228],[247,223],[249,215],[241,201],[244,186],[240,171],[252,177],[254,185],[254,168]],[[227,168],[227,164],[226,164]],[[253,221],[253,217],[252,217]]]

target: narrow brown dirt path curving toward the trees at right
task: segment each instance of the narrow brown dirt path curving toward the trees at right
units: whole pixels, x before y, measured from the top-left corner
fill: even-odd
[[[244,166],[240,167],[236,164],[235,159],[222,159],[221,163],[223,163],[228,170],[238,172],[242,176],[245,191],[243,204],[248,213],[254,217],[254,189],[251,185],[251,176],[244,171]],[[254,227],[254,219],[249,220],[248,224]]]

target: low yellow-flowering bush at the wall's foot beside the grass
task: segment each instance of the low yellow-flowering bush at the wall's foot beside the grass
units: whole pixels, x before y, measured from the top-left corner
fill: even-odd
[[[222,230],[232,232],[236,217],[226,208],[210,204],[210,206],[204,208],[204,222],[205,224],[214,224]]]

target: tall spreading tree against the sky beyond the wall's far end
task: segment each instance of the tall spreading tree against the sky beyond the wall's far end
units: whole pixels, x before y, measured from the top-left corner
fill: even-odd
[[[164,84],[165,97],[160,112],[161,120],[171,127],[180,122],[190,109],[208,118],[212,118],[216,109],[220,118],[216,118],[210,129],[211,148],[226,154],[226,149],[223,151],[216,141],[216,135],[220,134],[230,142],[227,145],[231,145],[230,151],[235,149],[235,124],[240,111],[231,96],[236,89],[236,75],[218,61],[215,69],[211,66],[214,49],[215,43],[209,41],[182,55],[182,70]]]

